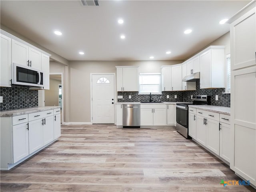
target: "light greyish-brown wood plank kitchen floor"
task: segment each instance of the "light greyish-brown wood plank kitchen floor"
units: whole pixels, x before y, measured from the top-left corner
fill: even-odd
[[[3,192],[252,192],[222,186],[241,180],[174,128],[62,126],[57,142],[9,171]]]

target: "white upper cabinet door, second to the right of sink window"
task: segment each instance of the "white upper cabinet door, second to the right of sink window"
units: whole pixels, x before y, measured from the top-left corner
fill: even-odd
[[[182,90],[182,66],[172,67],[172,90],[179,91]]]

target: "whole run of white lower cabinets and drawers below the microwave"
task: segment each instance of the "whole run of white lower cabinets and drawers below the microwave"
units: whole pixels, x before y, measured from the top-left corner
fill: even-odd
[[[1,117],[0,169],[9,170],[60,136],[60,108]]]

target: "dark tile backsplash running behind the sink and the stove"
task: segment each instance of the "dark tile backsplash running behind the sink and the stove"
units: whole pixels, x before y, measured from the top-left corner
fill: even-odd
[[[163,91],[161,95],[152,95],[153,101],[162,102],[192,102],[191,95],[210,95],[211,105],[230,107],[230,94],[222,94],[225,92],[225,88],[215,89],[200,89],[200,82],[196,82],[196,90],[194,91]],[[149,95],[138,94],[138,92],[117,92],[118,95],[122,95],[122,99],[118,99],[118,102],[146,102],[149,101]],[[131,99],[129,99],[131,95]],[[169,99],[167,99],[169,95]],[[174,99],[174,96],[177,96]],[[218,95],[218,100],[215,100],[215,96]]]

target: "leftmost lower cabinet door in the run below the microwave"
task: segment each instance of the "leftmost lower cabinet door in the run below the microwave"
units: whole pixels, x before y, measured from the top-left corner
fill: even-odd
[[[28,122],[12,127],[13,162],[16,163],[29,155],[28,151]]]

